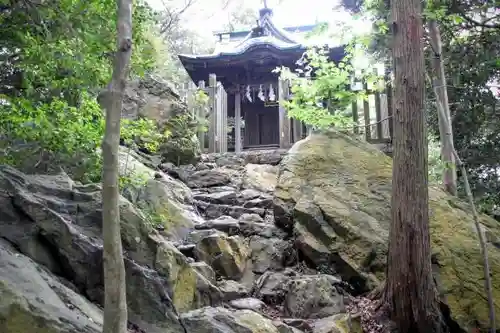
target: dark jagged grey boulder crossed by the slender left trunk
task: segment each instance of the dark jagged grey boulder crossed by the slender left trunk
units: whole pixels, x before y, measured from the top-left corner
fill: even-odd
[[[0,189],[0,238],[103,304],[100,186],[0,166]],[[170,299],[187,311],[212,304],[216,288],[123,197],[120,218],[129,319],[151,333],[179,332]]]

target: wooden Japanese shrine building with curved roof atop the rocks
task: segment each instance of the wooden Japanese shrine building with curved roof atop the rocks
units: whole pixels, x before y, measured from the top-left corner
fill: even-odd
[[[193,82],[205,85],[210,95],[209,152],[288,148],[305,133],[279,106],[289,87],[273,70],[297,67],[307,49],[300,34],[315,26],[282,29],[272,18],[273,11],[263,8],[252,30],[218,33],[212,54],[179,55]],[[343,56],[342,47],[330,49],[331,60]],[[228,118],[234,118],[230,133]]]

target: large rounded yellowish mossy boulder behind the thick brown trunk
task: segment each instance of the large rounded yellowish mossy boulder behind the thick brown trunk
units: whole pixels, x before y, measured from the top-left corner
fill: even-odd
[[[302,254],[333,269],[359,292],[384,279],[391,221],[392,161],[367,143],[329,132],[296,143],[283,158],[275,190],[276,223],[296,235]],[[429,188],[433,263],[443,300],[462,327],[486,327],[482,256],[470,209]],[[494,298],[500,298],[498,222],[481,216],[489,238]],[[497,306],[497,312],[500,306]],[[500,327],[500,326],[499,326]]]

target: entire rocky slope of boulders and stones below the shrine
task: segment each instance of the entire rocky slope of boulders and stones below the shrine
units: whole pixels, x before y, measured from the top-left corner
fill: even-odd
[[[390,168],[338,133],[181,167],[122,150],[130,332],[360,333],[351,295],[383,279]],[[100,332],[100,186],[1,166],[0,189],[0,331]],[[431,188],[431,213],[443,300],[463,328],[484,325],[467,207]],[[482,222],[497,291],[500,230]]]

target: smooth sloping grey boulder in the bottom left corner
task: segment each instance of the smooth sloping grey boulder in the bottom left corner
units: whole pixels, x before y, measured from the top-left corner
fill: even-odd
[[[0,239],[0,332],[99,333],[102,312]]]

